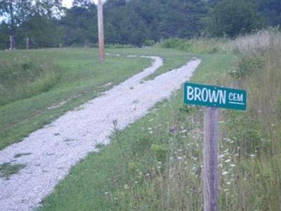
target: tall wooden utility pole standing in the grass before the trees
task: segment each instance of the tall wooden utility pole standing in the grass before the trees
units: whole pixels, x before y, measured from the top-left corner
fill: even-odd
[[[103,1],[98,0],[98,51],[100,61],[105,60],[105,35],[103,32]]]

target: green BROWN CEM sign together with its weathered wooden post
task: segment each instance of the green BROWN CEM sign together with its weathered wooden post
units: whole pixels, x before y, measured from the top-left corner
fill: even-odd
[[[246,110],[244,90],[185,83],[183,101],[204,110],[204,211],[218,210],[218,108]]]

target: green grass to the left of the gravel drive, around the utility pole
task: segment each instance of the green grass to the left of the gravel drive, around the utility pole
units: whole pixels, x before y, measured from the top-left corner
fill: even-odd
[[[190,54],[165,49],[110,49],[98,62],[96,49],[0,51],[0,149],[20,141],[67,110],[77,108],[151,65],[148,58],[162,56],[160,74],[183,65]],[[178,53],[178,58],[172,57]]]

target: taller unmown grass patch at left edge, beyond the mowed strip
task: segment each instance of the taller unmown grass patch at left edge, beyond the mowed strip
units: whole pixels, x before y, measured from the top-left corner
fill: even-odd
[[[51,58],[22,53],[0,58],[0,106],[48,91],[60,76]]]

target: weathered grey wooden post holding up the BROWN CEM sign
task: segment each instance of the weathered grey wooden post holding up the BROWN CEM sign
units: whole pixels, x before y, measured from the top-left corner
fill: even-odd
[[[218,210],[218,108],[204,110],[204,211]]]

